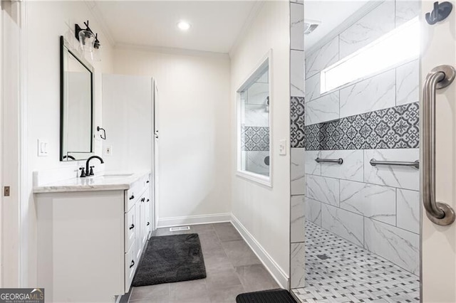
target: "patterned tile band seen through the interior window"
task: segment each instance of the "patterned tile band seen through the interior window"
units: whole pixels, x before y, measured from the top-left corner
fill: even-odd
[[[242,126],[241,150],[269,151],[269,127]]]

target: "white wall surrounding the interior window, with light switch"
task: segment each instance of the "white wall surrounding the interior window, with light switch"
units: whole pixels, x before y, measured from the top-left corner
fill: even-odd
[[[266,1],[252,26],[230,56],[232,113],[232,213],[257,243],[269,254],[281,271],[289,276],[290,226],[290,156],[279,156],[279,140],[290,137],[289,88],[289,3]],[[272,115],[273,187],[265,187],[236,175],[236,90],[272,49]],[[271,269],[271,268],[270,268]],[[277,275],[276,275],[277,277]],[[280,279],[280,277],[278,277]],[[286,286],[286,285],[285,285]]]

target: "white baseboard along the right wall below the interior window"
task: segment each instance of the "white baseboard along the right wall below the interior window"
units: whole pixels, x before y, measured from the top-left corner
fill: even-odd
[[[263,263],[266,270],[274,277],[274,280],[284,289],[289,289],[289,277],[286,275],[284,270],[274,261],[274,259],[264,250],[264,248],[258,243],[254,236],[242,225],[242,223],[234,216],[231,215],[231,222],[237,231],[242,235],[245,242],[254,251],[255,255]]]

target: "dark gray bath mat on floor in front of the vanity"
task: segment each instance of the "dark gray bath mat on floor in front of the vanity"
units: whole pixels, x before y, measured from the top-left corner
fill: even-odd
[[[206,267],[196,233],[152,237],[133,278],[133,286],[204,279]]]

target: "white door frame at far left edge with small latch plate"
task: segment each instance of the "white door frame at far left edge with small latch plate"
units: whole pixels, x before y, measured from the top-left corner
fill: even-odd
[[[1,4],[1,80],[2,80],[2,125],[1,129],[1,188],[10,186],[9,196],[1,198],[1,257],[2,287],[19,287],[24,272],[21,269],[21,200],[20,200],[20,129],[21,108],[21,4],[2,1]],[[3,195],[3,191],[1,193]],[[24,254],[23,254],[24,255]],[[24,270],[25,271],[25,270]]]

